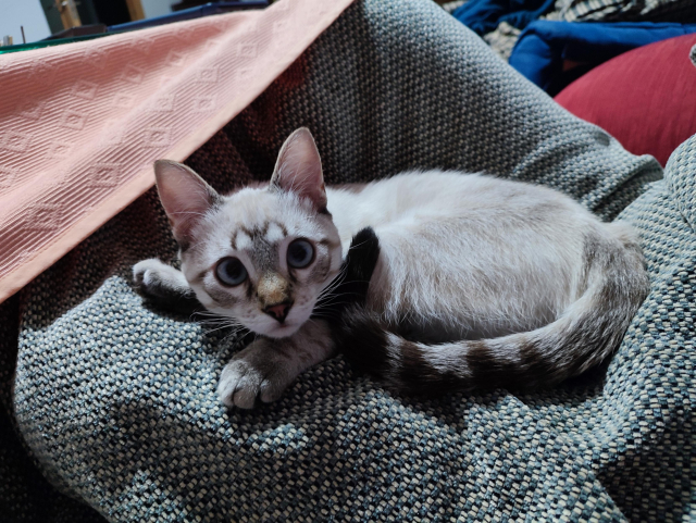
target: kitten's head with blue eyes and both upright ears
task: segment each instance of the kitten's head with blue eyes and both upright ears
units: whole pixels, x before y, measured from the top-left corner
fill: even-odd
[[[254,333],[294,334],[341,265],[310,132],[285,141],[266,187],[221,196],[179,163],[158,161],[154,172],[199,301]]]

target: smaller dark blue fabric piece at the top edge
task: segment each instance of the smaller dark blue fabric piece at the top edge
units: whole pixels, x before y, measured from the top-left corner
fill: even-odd
[[[523,29],[554,8],[555,0],[470,0],[452,12],[459,22],[483,36],[500,22]]]

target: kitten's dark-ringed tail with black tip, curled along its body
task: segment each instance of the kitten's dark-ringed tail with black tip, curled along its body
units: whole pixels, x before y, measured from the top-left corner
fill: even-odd
[[[555,322],[508,336],[426,345],[389,332],[364,307],[345,311],[336,336],[358,368],[388,388],[415,394],[480,388],[533,388],[559,383],[605,360],[647,296],[644,258],[632,231],[585,245],[584,294]]]

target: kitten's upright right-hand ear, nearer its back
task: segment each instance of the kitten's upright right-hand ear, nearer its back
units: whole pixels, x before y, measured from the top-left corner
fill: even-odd
[[[318,212],[326,212],[326,188],[322,160],[307,127],[293,133],[278,153],[271,188],[295,192],[309,199]]]

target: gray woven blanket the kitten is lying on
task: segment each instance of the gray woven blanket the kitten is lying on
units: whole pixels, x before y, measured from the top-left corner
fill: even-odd
[[[13,420],[55,488],[121,522],[696,516],[695,142],[659,180],[651,158],[571,116],[431,0],[353,4],[188,163],[219,190],[265,179],[301,125],[330,183],[478,171],[633,223],[651,292],[614,357],[534,394],[434,400],[336,358],[276,403],[227,411],[215,387],[241,341],[132,289],[133,263],[175,257],[151,190],[10,302]],[[12,347],[2,358],[7,382]],[[18,474],[3,456],[0,472]],[[11,497],[13,513],[17,499],[32,496]],[[53,521],[97,518],[61,499]]]

